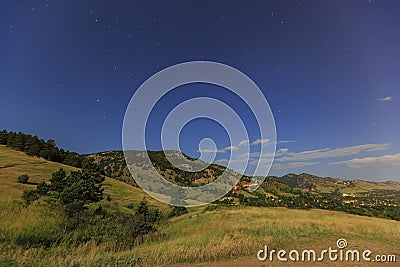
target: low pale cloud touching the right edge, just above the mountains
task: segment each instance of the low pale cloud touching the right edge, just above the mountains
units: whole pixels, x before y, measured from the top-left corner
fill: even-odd
[[[350,160],[331,162],[331,165],[345,164],[351,168],[371,167],[371,166],[400,166],[400,153],[384,155],[379,157],[354,158]]]

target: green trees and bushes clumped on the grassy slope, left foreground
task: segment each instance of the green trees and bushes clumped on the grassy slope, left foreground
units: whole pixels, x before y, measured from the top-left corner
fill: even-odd
[[[134,214],[98,204],[103,199],[103,180],[98,165],[86,159],[81,171],[68,175],[59,169],[52,174],[50,183],[41,182],[36,189],[25,190],[25,206],[41,199],[42,216],[60,212],[63,216],[53,225],[18,233],[12,242],[24,248],[112,242],[119,249],[131,249],[147,234],[157,231],[156,224],[163,215],[157,208],[149,208],[145,199]]]

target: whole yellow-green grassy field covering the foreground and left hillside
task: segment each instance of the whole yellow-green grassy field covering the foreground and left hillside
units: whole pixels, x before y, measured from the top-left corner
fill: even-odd
[[[271,249],[336,248],[336,240],[345,238],[349,249],[369,249],[376,254],[395,254],[400,261],[400,222],[348,215],[323,210],[285,208],[205,207],[190,209],[180,217],[164,220],[158,233],[149,235],[133,250],[121,250],[115,244],[79,247],[53,246],[48,249],[11,246],[7,240],[18,233],[51,231],[60,220],[43,214],[40,205],[23,208],[22,191],[33,185],[18,184],[17,177],[28,174],[31,182],[48,180],[63,167],[39,158],[26,156],[0,146],[0,266],[396,266],[395,263],[312,263],[259,262],[257,251],[264,245]],[[132,212],[145,194],[122,182],[106,179],[105,195],[111,201],[103,205]],[[170,207],[146,197],[149,204],[164,213]],[[397,262],[397,264],[398,264]]]

